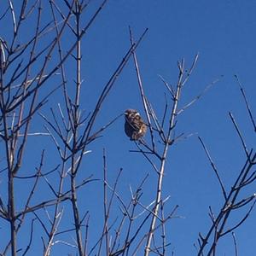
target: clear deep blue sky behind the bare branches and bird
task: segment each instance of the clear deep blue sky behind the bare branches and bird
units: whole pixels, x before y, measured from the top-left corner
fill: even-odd
[[[43,1],[44,2],[44,1]],[[91,1],[89,9],[85,11],[85,20],[96,9],[98,0]],[[46,6],[48,3],[44,3]],[[241,143],[229,119],[229,111],[234,113],[237,123],[244,132],[248,147],[255,145],[253,127],[247,117],[247,111],[242,102],[239,88],[234,75],[238,75],[253,112],[256,113],[255,79],[256,79],[256,2],[247,1],[135,1],[110,0],[102,13],[96,19],[83,41],[83,66],[81,108],[88,113],[96,102],[102,87],[119,61],[130,47],[129,30],[131,26],[134,36],[139,37],[148,27],[148,34],[137,49],[137,57],[143,76],[143,84],[148,99],[160,116],[164,108],[164,85],[159,76],[163,76],[170,84],[177,81],[177,60],[185,58],[187,67],[191,64],[195,54],[200,57],[195,71],[183,90],[181,106],[192,100],[215,79],[220,79],[207,94],[185,111],[177,123],[177,134],[184,132],[194,136],[173,145],[169,152],[164,183],[164,195],[171,195],[166,212],[175,205],[179,205],[177,215],[181,218],[172,219],[167,224],[167,240],[171,242],[170,252],[174,255],[195,255],[193,243],[209,228],[211,221],[208,217],[208,207],[218,211],[223,203],[222,194],[211,166],[207,161],[197,136],[201,136],[211,152],[212,159],[218,166],[219,173],[226,188],[234,182],[237,173],[244,163]],[[47,20],[45,18],[45,20]],[[7,30],[8,31],[8,30]],[[68,44],[68,42],[67,42]],[[73,62],[67,63],[67,78],[72,86],[75,78]],[[56,102],[61,96],[55,95],[50,101],[52,108],[57,108]],[[102,113],[97,121],[97,127],[105,124],[126,108],[138,109],[143,117],[143,105],[139,97],[137,78],[132,61],[128,63],[113,87]],[[49,106],[42,112],[49,114]],[[255,114],[254,114],[255,116]],[[43,122],[38,126],[43,130]],[[119,183],[119,193],[127,201],[130,196],[129,185],[136,188],[143,177],[149,173],[144,186],[143,204],[154,200],[156,175],[142,155],[129,152],[135,145],[125,137],[123,131],[124,120],[119,119],[96,143],[90,145],[92,150],[84,158],[80,177],[87,177],[93,173],[94,177],[102,178],[102,148],[108,154],[108,176],[113,183],[120,167],[124,169]],[[146,137],[146,139],[149,137]],[[56,150],[47,137],[36,138],[29,142],[29,148],[35,148],[35,142],[40,141],[38,152],[26,156],[24,170],[34,170],[40,159],[39,148],[47,149],[46,166],[52,168],[58,163]],[[54,181],[52,181],[54,183]],[[42,185],[43,189],[46,189]],[[44,190],[45,194],[47,192]],[[256,192],[255,186],[247,189],[247,194]],[[42,198],[44,198],[42,195]],[[40,195],[41,196],[41,195]],[[90,184],[79,194],[81,207],[90,210],[90,239],[96,239],[99,219],[102,212],[102,183]],[[66,212],[65,212],[66,211]],[[64,212],[70,211],[65,206]],[[70,213],[71,214],[71,213]],[[68,214],[67,214],[68,215]],[[63,218],[68,221],[68,216]],[[115,212],[113,212],[113,218]],[[236,218],[242,216],[237,212]],[[71,218],[70,218],[71,219]],[[255,211],[247,222],[236,231],[239,253],[251,256],[255,252]],[[72,221],[73,223],[73,221]],[[231,224],[231,223],[230,223]],[[65,222],[63,226],[65,226]],[[70,227],[67,226],[67,227]],[[64,229],[64,227],[63,227]],[[4,229],[0,230],[0,233]],[[2,234],[3,236],[3,234]],[[67,241],[72,241],[67,235]],[[63,238],[63,239],[64,239]],[[91,244],[93,242],[91,241]],[[91,245],[90,244],[90,245]],[[41,247],[38,241],[38,248]],[[53,255],[73,253],[71,247],[56,245]],[[32,254],[30,254],[32,255]],[[171,254],[170,254],[171,255]],[[220,242],[218,255],[235,255],[231,236]]]

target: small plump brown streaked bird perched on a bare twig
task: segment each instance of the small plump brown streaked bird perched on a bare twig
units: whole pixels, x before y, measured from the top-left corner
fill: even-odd
[[[125,134],[131,141],[137,141],[142,138],[147,131],[147,125],[144,123],[140,113],[135,109],[125,111]]]

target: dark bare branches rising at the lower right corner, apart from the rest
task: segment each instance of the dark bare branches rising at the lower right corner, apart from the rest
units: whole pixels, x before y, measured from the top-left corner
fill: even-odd
[[[253,113],[247,101],[247,96],[237,76],[236,80],[241,90],[241,95],[246,104],[247,113],[252,123],[253,130],[255,131]],[[201,233],[199,233],[198,255],[217,255],[218,241],[224,236],[227,236],[228,234],[232,234],[232,236],[234,237],[237,254],[237,245],[236,238],[234,236],[234,230],[240,227],[241,224],[243,224],[247,220],[250,213],[253,211],[256,202],[255,193],[253,193],[253,195],[246,196],[244,196],[243,193],[247,190],[249,186],[252,185],[252,183],[255,182],[256,176],[255,171],[253,171],[253,167],[256,164],[256,154],[254,152],[254,148],[247,148],[247,143],[242,135],[239,126],[236,123],[236,119],[231,112],[229,113],[229,116],[232,124],[234,125],[234,129],[236,130],[237,137],[241,141],[241,147],[243,148],[245,154],[244,165],[241,167],[241,170],[237,172],[237,177],[235,178],[231,188],[225,188],[224,182],[222,181],[222,178],[220,177],[220,174],[218,172],[218,168],[212,160],[212,156],[210,155],[205,143],[203,143],[201,137],[199,137],[201,145],[205,153],[207,154],[207,159],[209,160],[210,165],[212,166],[212,170],[218,179],[219,188],[221,189],[223,195],[223,206],[219,209],[219,212],[213,212],[212,207],[209,207],[209,217],[212,220],[212,225],[207,231],[206,236],[203,236],[201,235]],[[237,210],[241,210],[241,212],[245,211],[245,213],[243,213],[243,216],[240,220],[237,221],[236,224],[230,226],[230,224],[228,224],[228,220],[232,218],[232,213],[236,212]]]

